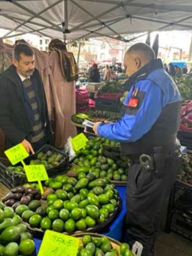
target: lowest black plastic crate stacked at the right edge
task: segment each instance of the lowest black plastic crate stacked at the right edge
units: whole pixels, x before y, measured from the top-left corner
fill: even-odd
[[[176,210],[172,214],[171,230],[192,241],[192,216]]]

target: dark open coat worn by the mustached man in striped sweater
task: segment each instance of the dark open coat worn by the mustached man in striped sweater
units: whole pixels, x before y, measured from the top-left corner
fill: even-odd
[[[37,69],[31,76],[34,84],[41,121],[46,140],[53,145],[53,132],[48,120],[48,111],[42,79]],[[23,84],[15,66],[10,66],[0,75],[0,127],[5,132],[6,148],[10,148],[24,139],[30,142],[32,131],[32,109],[26,108]]]

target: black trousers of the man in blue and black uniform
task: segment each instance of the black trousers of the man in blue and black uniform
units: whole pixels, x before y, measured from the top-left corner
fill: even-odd
[[[143,244],[142,256],[154,255],[160,209],[176,181],[181,158],[174,154],[165,160],[165,168],[160,176],[155,171],[147,171],[140,163],[130,167],[127,181],[126,231],[128,243]]]

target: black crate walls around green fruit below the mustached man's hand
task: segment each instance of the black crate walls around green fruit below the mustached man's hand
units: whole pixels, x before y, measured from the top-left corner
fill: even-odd
[[[57,176],[59,174],[67,172],[68,163],[69,163],[69,156],[67,154],[65,154],[64,152],[62,152],[61,150],[58,150],[57,148],[52,147],[50,145],[43,146],[34,155],[30,155],[29,157],[27,157],[24,160],[24,162],[26,164],[29,164],[31,160],[37,159],[37,155],[38,155],[39,152],[46,153],[47,151],[52,151],[52,152],[60,153],[63,156],[63,158],[60,161],[59,165],[57,165],[55,167],[52,167],[52,168],[49,168],[49,169],[46,170],[48,176],[51,178],[51,177],[55,177],[55,176]]]

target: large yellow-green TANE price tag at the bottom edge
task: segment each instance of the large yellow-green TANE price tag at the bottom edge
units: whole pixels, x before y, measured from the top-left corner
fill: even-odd
[[[79,238],[46,230],[38,256],[76,256]]]

